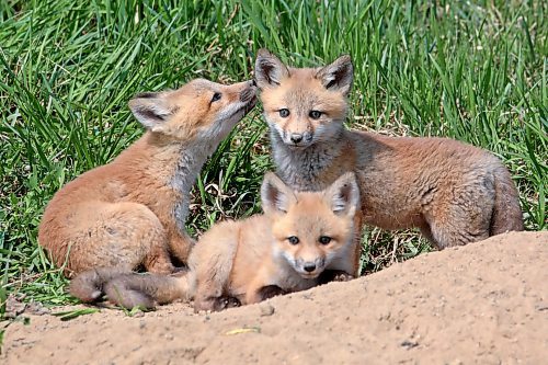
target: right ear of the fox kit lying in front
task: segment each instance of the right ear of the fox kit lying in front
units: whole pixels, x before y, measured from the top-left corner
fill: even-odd
[[[346,172],[329,186],[324,196],[336,215],[353,216],[359,209],[359,187],[354,172]]]

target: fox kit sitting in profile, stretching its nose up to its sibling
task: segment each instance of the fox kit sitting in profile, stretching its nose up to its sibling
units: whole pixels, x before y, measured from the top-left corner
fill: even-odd
[[[146,134],[113,162],[55,194],[39,243],[67,276],[96,266],[171,273],[170,254],[186,262],[190,190],[203,163],[255,104],[254,82],[197,79],[179,90],[129,102]]]

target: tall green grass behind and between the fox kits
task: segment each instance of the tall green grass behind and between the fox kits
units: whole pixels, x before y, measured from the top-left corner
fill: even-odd
[[[435,3],[435,4],[434,4]],[[349,125],[447,136],[509,167],[527,229],[546,228],[546,1],[0,0],[0,297],[67,304],[36,242],[53,194],[141,135],[127,101],[195,77],[250,78],[260,47],[296,66],[351,54]],[[194,191],[194,233],[259,210],[271,169],[255,109]],[[414,232],[364,233],[364,272],[429,250]],[[395,244],[397,242],[398,244]],[[2,306],[0,306],[2,308]]]

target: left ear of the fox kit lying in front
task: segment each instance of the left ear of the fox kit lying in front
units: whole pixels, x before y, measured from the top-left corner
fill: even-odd
[[[275,173],[267,172],[261,186],[261,201],[266,214],[287,213],[289,206],[297,203],[297,197]]]

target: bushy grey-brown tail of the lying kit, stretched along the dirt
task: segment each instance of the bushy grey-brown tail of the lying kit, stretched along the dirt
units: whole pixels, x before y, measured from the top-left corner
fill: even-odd
[[[155,308],[189,295],[186,273],[176,276],[138,274],[115,267],[96,267],[76,276],[69,292],[84,303],[99,300],[103,294],[122,307]]]

